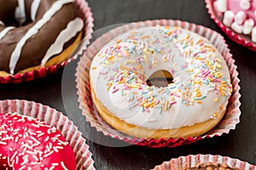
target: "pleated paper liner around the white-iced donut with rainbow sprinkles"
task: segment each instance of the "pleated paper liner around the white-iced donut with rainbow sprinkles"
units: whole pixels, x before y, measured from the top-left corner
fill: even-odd
[[[131,30],[133,28],[143,27],[143,26],[181,26],[184,29],[189,31],[194,31],[200,34],[202,37],[206,37],[215,48],[218,48],[219,52],[224,56],[224,59],[227,62],[227,65],[230,69],[230,77],[233,85],[233,93],[230,96],[229,105],[227,107],[224,118],[221,122],[218,123],[216,127],[213,127],[211,131],[207,132],[205,135],[197,136],[195,138],[189,137],[186,139],[137,139],[131,136],[128,136],[124,133],[119,133],[113,127],[110,127],[107,122],[102,120],[102,117],[99,116],[94,104],[92,102],[90,94],[90,63],[96,53],[113,37],[116,37],[120,33]],[[79,65],[76,72],[76,82],[79,95],[79,108],[82,110],[82,114],[85,116],[86,121],[90,122],[91,127],[96,127],[98,132],[102,132],[107,136],[111,136],[114,139],[123,140],[129,144],[137,144],[147,147],[174,147],[182,144],[190,144],[200,139],[212,138],[213,136],[220,136],[223,133],[229,133],[230,129],[235,129],[236,124],[239,122],[239,116],[241,111],[239,106],[241,105],[239,99],[241,94],[239,94],[239,78],[238,72],[236,71],[236,65],[234,64],[235,60],[232,59],[230,54],[230,49],[227,47],[227,44],[224,42],[224,37],[222,37],[218,32],[212,31],[209,28],[204,26],[197,26],[189,22],[183,22],[180,20],[147,20],[143,22],[131,23],[124,26],[119,26],[112,31],[108,31],[103,34],[102,37],[96,39],[95,42],[92,42],[87,50],[84,52],[82,57],[79,60]]]

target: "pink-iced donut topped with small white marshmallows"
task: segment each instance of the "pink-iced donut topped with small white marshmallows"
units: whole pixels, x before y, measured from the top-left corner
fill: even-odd
[[[255,0],[215,0],[213,5],[222,15],[224,26],[256,42]]]

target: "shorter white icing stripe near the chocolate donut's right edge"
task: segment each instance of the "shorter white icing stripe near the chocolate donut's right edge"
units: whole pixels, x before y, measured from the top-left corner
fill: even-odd
[[[41,62],[41,67],[44,67],[45,63],[51,56],[61,53],[65,42],[74,37],[83,28],[83,26],[84,22],[80,18],[70,21],[67,28],[61,31],[59,36],[55,39],[55,42],[49,47],[44,59]]]

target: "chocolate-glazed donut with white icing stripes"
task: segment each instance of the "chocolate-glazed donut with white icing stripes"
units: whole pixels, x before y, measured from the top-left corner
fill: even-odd
[[[66,60],[83,37],[72,0],[0,1],[0,76]]]

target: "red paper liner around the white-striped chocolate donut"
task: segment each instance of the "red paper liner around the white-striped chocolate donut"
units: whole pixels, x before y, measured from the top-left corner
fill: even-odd
[[[83,54],[86,46],[90,43],[91,33],[93,32],[92,28],[94,26],[93,18],[90,7],[85,0],[73,0],[73,2],[77,4],[79,15],[84,19],[84,39],[82,42],[80,42],[79,49],[77,49],[69,59],[57,65],[50,65],[47,68],[41,68],[39,70],[29,71],[22,74],[17,73],[15,75],[9,75],[8,77],[0,77],[0,83],[29,82],[37,78],[45,77],[50,73],[58,71],[60,68],[64,67],[74,59],[77,59],[79,55]]]

